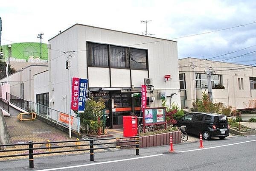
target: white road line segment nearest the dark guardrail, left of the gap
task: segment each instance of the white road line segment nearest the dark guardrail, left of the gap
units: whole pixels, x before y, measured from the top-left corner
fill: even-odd
[[[122,162],[122,161],[127,161],[127,160],[137,160],[137,159],[156,157],[156,156],[162,156],[162,155],[164,155],[164,154],[155,154],[155,155],[150,155],[150,156],[134,157],[134,158],[130,158],[130,159],[112,160],[112,161],[99,162],[99,163],[90,163],[90,164],[85,164],[85,165],[73,165],[73,166],[67,166],[67,167],[62,167],[62,168],[49,168],[49,169],[43,169],[43,170],[38,170],[38,171],[54,171],[54,170],[61,170],[61,169],[67,169],[67,168],[79,168],[79,167],[84,167],[84,166],[89,166],[89,165],[100,165],[100,164],[105,164],[105,163]]]

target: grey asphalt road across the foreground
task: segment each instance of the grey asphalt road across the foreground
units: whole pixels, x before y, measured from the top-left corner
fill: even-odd
[[[169,154],[169,146],[135,150],[116,150],[94,154],[90,162],[88,153],[58,157],[35,158],[34,170],[256,170],[256,136],[231,137],[224,140],[204,141],[175,145],[175,153]],[[29,170],[29,160],[1,161],[1,170]]]

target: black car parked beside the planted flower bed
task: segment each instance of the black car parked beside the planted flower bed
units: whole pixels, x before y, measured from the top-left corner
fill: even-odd
[[[186,126],[186,132],[194,135],[202,134],[205,140],[212,137],[224,139],[229,136],[228,122],[226,115],[216,113],[192,112],[183,115],[177,126]]]

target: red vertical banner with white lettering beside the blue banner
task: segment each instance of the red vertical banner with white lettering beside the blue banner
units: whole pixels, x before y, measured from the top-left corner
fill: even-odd
[[[79,78],[72,78],[71,87],[71,109],[78,110]]]

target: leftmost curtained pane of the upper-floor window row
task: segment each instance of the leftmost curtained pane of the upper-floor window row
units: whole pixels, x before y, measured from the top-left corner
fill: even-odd
[[[89,66],[108,67],[108,45],[87,43]]]

